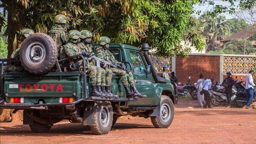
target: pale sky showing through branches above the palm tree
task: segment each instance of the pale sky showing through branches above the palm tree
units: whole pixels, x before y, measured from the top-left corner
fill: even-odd
[[[228,1],[222,1],[222,0],[214,0],[215,5],[223,5],[223,6],[229,6],[230,3]],[[234,2],[234,4],[237,6],[239,4],[239,1]],[[236,7],[235,7],[236,8]],[[201,10],[201,14],[203,14],[203,12],[211,11],[213,9],[213,5],[203,5],[203,6],[199,6],[198,4],[196,4],[194,6],[194,10]],[[200,15],[201,15],[200,14]],[[235,15],[230,15],[228,12],[226,13],[221,13],[221,15],[224,15],[226,17],[226,19],[232,19],[232,18],[237,18]],[[196,15],[196,17],[199,17],[198,15]]]

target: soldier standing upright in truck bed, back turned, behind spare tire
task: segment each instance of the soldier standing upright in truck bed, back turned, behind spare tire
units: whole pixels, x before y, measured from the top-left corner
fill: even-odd
[[[64,45],[68,42],[67,31],[64,29],[67,18],[63,14],[59,14],[55,16],[54,22],[55,25],[53,26],[53,29],[49,31],[48,35],[56,39],[57,47],[59,50],[59,59],[63,59],[67,57],[64,52]]]

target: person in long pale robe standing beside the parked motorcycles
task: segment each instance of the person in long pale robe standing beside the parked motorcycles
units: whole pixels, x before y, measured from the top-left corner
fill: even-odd
[[[199,79],[197,80],[197,84],[196,84],[196,88],[197,88],[197,99],[198,99],[198,106],[199,107],[203,107],[203,105],[205,104],[203,95],[200,94],[200,91],[203,89],[203,83],[204,83],[204,79],[203,79],[203,74],[200,73],[199,74]]]

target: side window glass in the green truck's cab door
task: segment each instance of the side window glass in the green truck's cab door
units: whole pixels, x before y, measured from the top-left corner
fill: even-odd
[[[131,53],[133,72],[137,74],[146,74],[146,68],[143,63],[140,52],[130,51],[130,53]]]

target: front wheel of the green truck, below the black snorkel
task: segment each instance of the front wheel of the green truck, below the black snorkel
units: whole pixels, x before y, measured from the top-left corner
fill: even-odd
[[[173,101],[166,95],[162,95],[160,101],[160,116],[151,116],[151,122],[155,128],[168,128],[173,122]]]

